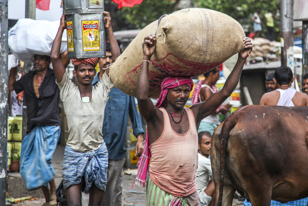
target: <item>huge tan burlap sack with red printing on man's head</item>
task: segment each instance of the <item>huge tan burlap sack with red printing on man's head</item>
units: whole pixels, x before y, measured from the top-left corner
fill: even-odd
[[[136,96],[144,37],[155,33],[157,23],[146,26],[111,65],[111,81],[128,95]],[[159,96],[165,76],[194,77],[223,63],[244,49],[244,38],[241,25],[217,11],[183,9],[164,17],[149,64],[149,97]]]

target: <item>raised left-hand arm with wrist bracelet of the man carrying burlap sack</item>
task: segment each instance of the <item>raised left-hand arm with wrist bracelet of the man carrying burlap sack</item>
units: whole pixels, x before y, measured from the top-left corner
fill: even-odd
[[[137,84],[137,100],[140,114],[147,121],[154,113],[155,107],[149,98],[149,60],[156,48],[156,37],[154,35],[144,37],[143,48],[143,62],[142,68]]]

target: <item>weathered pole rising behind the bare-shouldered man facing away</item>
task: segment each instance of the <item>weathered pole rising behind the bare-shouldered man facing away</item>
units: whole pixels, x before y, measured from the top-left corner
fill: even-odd
[[[281,65],[286,65],[294,72],[293,50],[293,0],[281,0]]]

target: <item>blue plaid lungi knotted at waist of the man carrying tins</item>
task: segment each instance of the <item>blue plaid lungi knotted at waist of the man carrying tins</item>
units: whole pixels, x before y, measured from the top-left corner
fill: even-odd
[[[82,192],[89,193],[94,183],[99,189],[106,191],[108,168],[108,152],[105,142],[99,149],[82,153],[66,145],[62,164],[64,194],[68,187],[83,181]]]

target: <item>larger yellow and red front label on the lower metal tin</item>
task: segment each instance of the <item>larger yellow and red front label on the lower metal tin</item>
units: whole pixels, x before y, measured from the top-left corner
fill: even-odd
[[[99,51],[99,21],[81,21],[83,51]]]

